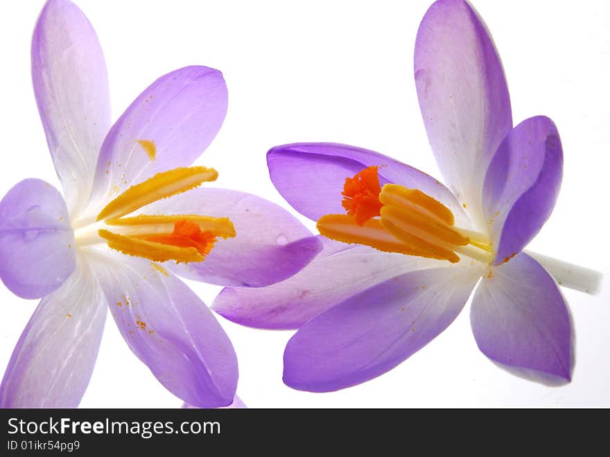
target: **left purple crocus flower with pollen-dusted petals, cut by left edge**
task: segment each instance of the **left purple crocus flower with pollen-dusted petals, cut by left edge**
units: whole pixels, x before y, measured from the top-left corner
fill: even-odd
[[[171,393],[198,407],[231,404],[231,341],[175,274],[265,286],[308,264],[320,243],[271,202],[195,189],[217,175],[189,165],[225,118],[223,75],[207,67],[166,74],[111,126],[100,44],[68,0],[44,6],[32,71],[65,200],[28,179],[0,202],[0,277],[19,297],[42,298],[8,363],[0,405],[78,406],[108,306]]]

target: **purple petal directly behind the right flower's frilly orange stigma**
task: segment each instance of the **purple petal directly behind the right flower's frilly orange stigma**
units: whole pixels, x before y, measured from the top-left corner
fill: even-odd
[[[345,178],[367,166],[378,166],[381,185],[393,182],[419,189],[449,207],[456,224],[469,225],[455,197],[426,173],[372,150],[333,143],[295,143],[276,146],[267,154],[271,180],[299,213],[317,221],[324,214],[342,214]]]

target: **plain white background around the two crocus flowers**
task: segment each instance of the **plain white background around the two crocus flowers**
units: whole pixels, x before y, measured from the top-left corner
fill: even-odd
[[[417,26],[430,1],[94,1],[76,3],[96,28],[110,74],[114,119],[155,78],[188,64],[223,71],[229,112],[200,164],[218,185],[288,207],[268,179],[265,152],[294,141],[371,148],[438,175],[412,74]],[[31,33],[42,0],[0,6],[0,196],[28,177],[59,187],[30,79]],[[515,123],[555,120],[564,182],[530,248],[610,273],[610,2],[474,0],[503,59]],[[302,218],[304,220],[304,218]],[[308,226],[313,228],[311,223]],[[220,288],[190,283],[207,303]],[[430,345],[378,379],[338,393],[281,382],[293,332],[219,318],[240,362],[250,407],[610,406],[610,290],[564,290],[577,334],[573,382],[547,388],[512,377],[476,347],[469,305]],[[0,370],[37,302],[0,284]],[[106,331],[84,407],[176,407],[116,330]]]

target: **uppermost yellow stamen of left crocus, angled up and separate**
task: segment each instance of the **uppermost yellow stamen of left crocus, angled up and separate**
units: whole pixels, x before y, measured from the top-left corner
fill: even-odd
[[[130,187],[108,203],[98,214],[97,220],[125,216],[152,202],[188,191],[198,187],[202,182],[214,181],[216,178],[218,172],[204,166],[177,168],[158,173],[153,178]]]

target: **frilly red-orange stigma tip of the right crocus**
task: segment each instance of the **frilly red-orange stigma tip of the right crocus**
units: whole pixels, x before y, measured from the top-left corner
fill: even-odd
[[[343,185],[341,205],[360,226],[381,214],[383,205],[379,201],[381,185],[378,168],[378,166],[369,166],[356,173],[354,178],[346,178]]]

